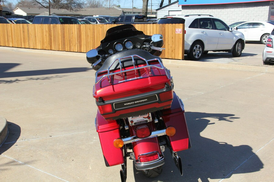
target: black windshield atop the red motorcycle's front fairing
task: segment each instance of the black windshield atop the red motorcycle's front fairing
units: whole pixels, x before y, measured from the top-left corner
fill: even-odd
[[[137,30],[131,24],[119,25],[108,29],[106,32],[106,36],[103,40],[101,40],[101,43],[110,42],[140,34],[144,34],[144,32]]]

